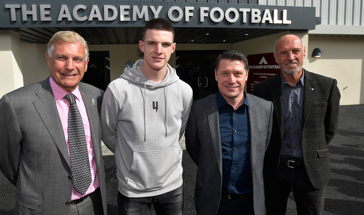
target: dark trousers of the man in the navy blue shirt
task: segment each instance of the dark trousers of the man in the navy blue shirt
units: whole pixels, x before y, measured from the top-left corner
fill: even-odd
[[[221,195],[216,215],[254,215],[253,193],[239,199],[229,199]]]

